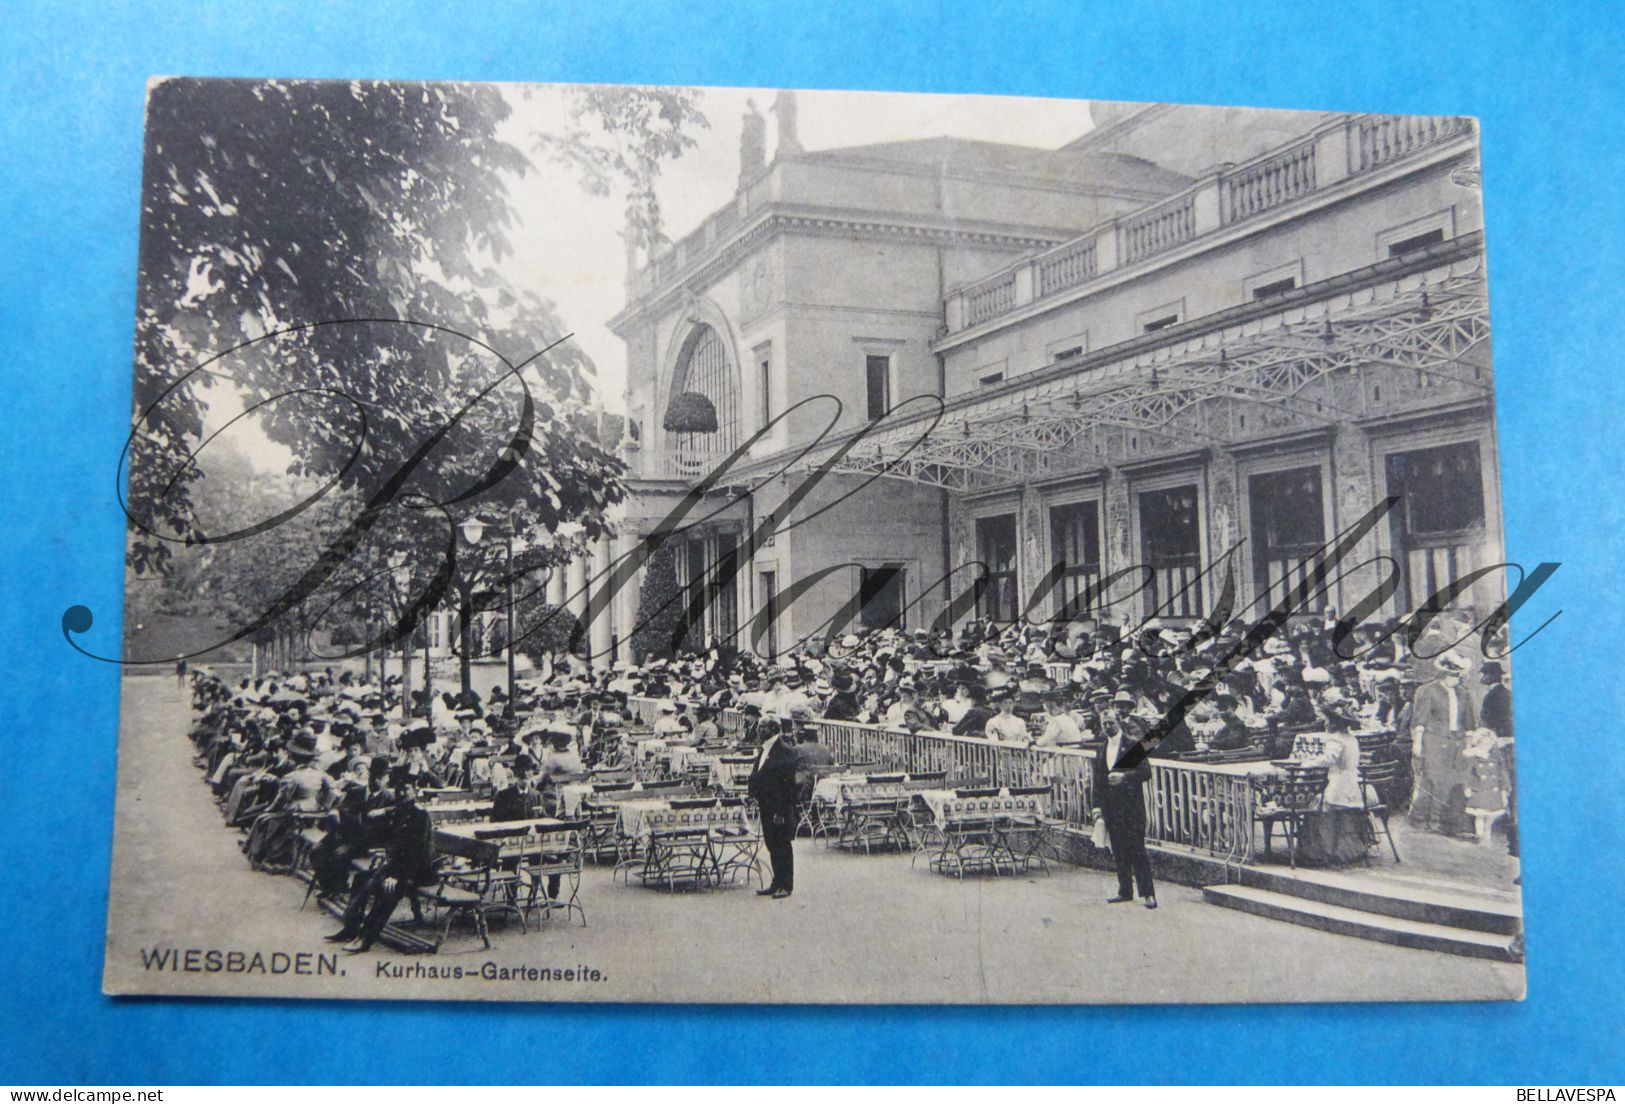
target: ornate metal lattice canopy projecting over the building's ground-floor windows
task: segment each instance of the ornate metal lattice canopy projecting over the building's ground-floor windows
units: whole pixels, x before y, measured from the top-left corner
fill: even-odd
[[[826,442],[791,470],[991,491],[1419,406],[1487,403],[1482,254]]]

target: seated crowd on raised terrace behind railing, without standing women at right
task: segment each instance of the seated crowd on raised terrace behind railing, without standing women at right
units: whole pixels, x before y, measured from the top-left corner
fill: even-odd
[[[1162,717],[1242,632],[1240,621],[1209,636],[1155,621],[1131,636],[1079,623],[1064,629],[972,623],[954,636],[848,634],[817,654],[800,650],[777,663],[712,649],[637,668],[616,663],[606,678],[634,696],[687,702],[656,720],[656,735],[697,730],[718,711],[739,709],[751,717],[852,720],[1051,746],[1082,743],[1097,732],[1089,702],[1100,693],[1126,694],[1147,720]],[[1357,632],[1357,647],[1380,634],[1380,628]],[[1298,730],[1398,728],[1414,685],[1398,636],[1344,662],[1332,652],[1329,623],[1294,624],[1230,665],[1154,754],[1253,748],[1261,758],[1282,756]]]

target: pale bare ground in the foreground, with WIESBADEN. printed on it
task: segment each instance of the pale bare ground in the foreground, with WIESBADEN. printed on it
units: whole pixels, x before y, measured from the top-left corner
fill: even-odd
[[[332,953],[336,924],[304,886],[255,873],[239,834],[192,766],[187,707],[171,678],[127,678],[109,989],[240,995],[242,977],[146,972],[141,948]],[[1251,1002],[1495,998],[1523,969],[1370,943],[1204,904],[1160,888],[1162,907],[1107,906],[1115,880],[1058,867],[1053,876],[959,883],[907,857],[845,855],[796,842],[796,893],[775,902],[744,888],[666,894],[582,881],[590,927],[520,933],[496,927],[491,951],[453,930],[439,956],[379,948],[340,956],[344,976],[255,977],[263,993],[486,1000],[733,998],[798,1002]],[[484,963],[566,969],[598,984],[374,980],[377,964]]]

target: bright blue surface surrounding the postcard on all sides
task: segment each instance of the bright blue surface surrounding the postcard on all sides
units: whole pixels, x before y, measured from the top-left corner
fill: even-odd
[[[1625,1080],[1615,639],[1620,5],[6,5],[0,16],[0,1081]],[[101,995],[143,86],[151,75],[874,88],[1482,120],[1529,998],[707,1008]],[[1539,613],[1536,613],[1539,611]],[[185,902],[177,902],[185,907]]]

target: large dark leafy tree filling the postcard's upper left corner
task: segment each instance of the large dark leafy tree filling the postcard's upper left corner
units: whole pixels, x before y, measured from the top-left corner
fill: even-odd
[[[533,167],[499,137],[509,115],[500,89],[476,85],[153,86],[127,457],[132,569],[169,571],[177,546],[249,540],[325,501],[312,532],[330,543],[284,595],[314,600],[346,571],[377,574],[405,546],[424,564],[414,585],[455,592],[466,613],[504,569],[500,543],[455,540],[468,515],[522,532],[603,532],[624,486],[587,408],[592,364],[562,340],[552,304],[502,275],[510,187]],[[629,233],[652,241],[653,179],[692,145],[694,125],[704,117],[689,93],[583,89],[567,133],[535,146],[574,164],[588,190],[621,182]],[[200,524],[211,384],[236,389],[292,452],[304,502],[247,528]],[[268,628],[244,616],[245,632]]]

